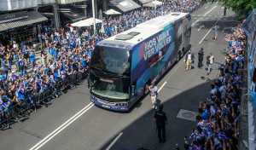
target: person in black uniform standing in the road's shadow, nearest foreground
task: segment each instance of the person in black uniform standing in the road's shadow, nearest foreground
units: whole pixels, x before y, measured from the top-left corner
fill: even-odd
[[[159,111],[154,113],[153,120],[153,124],[156,122],[159,142],[166,142],[166,125],[168,125],[166,113],[163,112],[163,107],[162,104],[159,106]]]

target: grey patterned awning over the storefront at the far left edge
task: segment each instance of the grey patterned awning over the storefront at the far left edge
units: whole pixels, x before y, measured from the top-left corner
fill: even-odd
[[[4,22],[0,24],[0,32],[14,29],[20,26],[28,26],[34,23],[43,22],[48,20],[44,17],[43,14],[40,14],[38,11],[29,11],[27,12],[27,18],[22,20],[14,20],[10,22]]]

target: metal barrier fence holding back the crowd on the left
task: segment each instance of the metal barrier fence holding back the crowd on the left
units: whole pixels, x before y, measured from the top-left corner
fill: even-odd
[[[14,101],[14,105],[10,105],[8,109],[2,110],[0,113],[1,129],[9,128],[9,125],[19,121],[20,118],[25,118],[32,112],[36,112],[39,107],[48,107],[48,102],[53,95],[64,94],[64,90],[75,87],[81,84],[82,80],[87,77],[87,72],[76,72],[73,75],[61,79],[56,84],[49,84],[47,89],[33,94],[29,98],[19,103]]]

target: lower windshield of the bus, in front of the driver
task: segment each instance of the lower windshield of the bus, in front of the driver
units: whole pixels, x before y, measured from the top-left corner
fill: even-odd
[[[129,100],[130,78],[100,78],[96,72],[90,73],[90,91],[95,95],[104,98],[113,99],[114,101]]]

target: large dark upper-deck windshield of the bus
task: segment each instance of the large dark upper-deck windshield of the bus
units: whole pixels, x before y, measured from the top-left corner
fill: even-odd
[[[112,72],[119,75],[130,74],[131,63],[127,49],[96,46],[90,60],[90,66],[102,72]]]

